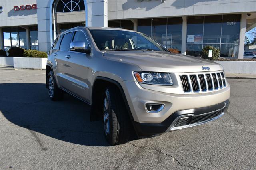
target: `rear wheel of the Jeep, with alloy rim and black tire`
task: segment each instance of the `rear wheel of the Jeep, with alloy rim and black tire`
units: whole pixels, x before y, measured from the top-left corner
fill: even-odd
[[[58,101],[62,99],[62,90],[58,88],[52,71],[50,71],[47,76],[47,89],[50,99],[52,99],[53,101]]]

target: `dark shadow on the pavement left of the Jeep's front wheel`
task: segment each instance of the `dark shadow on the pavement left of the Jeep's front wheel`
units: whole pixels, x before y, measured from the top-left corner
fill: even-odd
[[[39,135],[42,142],[49,136],[74,144],[109,146],[102,122],[90,122],[89,105],[68,94],[62,101],[51,101],[42,83],[0,84],[0,111],[8,121],[32,134],[46,135]]]

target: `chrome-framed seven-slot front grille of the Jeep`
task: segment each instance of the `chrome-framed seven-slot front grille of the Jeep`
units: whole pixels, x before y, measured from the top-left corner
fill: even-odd
[[[206,92],[226,87],[226,79],[223,72],[180,75],[180,81],[186,93]]]

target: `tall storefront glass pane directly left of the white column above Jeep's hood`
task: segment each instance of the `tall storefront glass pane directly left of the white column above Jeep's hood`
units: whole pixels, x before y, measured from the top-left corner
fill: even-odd
[[[181,52],[182,17],[168,18],[167,20],[167,48],[178,49]]]

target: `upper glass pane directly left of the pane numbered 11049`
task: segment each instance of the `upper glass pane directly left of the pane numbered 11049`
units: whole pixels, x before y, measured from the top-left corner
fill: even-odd
[[[205,16],[203,43],[220,43],[221,21],[221,15]]]

